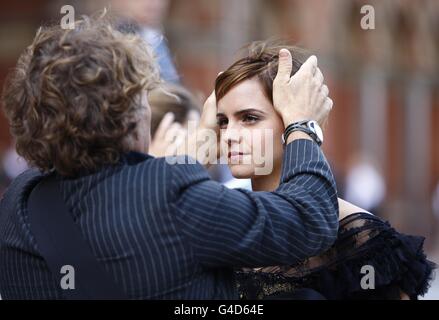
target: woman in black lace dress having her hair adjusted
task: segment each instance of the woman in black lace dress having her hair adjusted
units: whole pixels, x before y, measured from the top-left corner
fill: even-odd
[[[254,42],[215,83],[221,152],[233,176],[251,179],[253,191],[258,192],[276,190],[285,165],[282,117],[273,107],[272,80],[280,48],[289,49],[294,75],[308,57],[304,50],[283,43]],[[328,92],[327,87],[322,90]],[[256,174],[258,167],[267,164],[255,160],[257,155],[267,154],[264,142],[256,143],[244,134],[250,131],[254,137],[264,130],[273,132],[273,158],[266,160],[272,161],[273,170],[268,175]],[[338,238],[329,250],[296,265],[237,272],[241,297],[292,299],[303,287],[331,300],[417,299],[427,292],[435,265],[426,259],[423,237],[399,233],[388,222],[343,199],[339,199],[339,210]],[[361,285],[363,266],[375,270],[373,289]]]

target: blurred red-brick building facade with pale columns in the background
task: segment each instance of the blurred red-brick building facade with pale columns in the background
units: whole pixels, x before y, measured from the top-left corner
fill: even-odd
[[[75,3],[77,14],[86,10]],[[38,25],[56,21],[62,4],[0,1],[0,85]],[[366,4],[375,9],[374,30],[360,25]],[[355,159],[367,155],[385,182],[382,216],[434,244],[438,1],[171,0],[163,27],[181,82],[205,96],[217,73],[250,41],[285,38],[315,53],[334,100],[324,150],[341,195]],[[11,143],[0,115],[0,155]]]

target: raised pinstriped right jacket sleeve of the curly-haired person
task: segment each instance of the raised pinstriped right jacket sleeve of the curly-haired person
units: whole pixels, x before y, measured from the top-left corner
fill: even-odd
[[[228,189],[211,180],[199,163],[173,165],[171,171],[179,229],[204,266],[294,264],[335,241],[335,182],[311,140],[286,146],[274,192]]]

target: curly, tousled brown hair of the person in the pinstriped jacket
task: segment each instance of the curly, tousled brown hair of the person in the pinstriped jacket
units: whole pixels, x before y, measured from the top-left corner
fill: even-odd
[[[149,47],[108,17],[42,27],[4,87],[17,152],[66,176],[115,164],[137,139],[142,92],[159,82]]]

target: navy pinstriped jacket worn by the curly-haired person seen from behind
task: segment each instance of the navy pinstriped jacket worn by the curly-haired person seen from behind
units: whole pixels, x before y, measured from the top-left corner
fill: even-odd
[[[187,162],[186,162],[187,163]],[[60,289],[29,232],[30,170],[0,207],[0,294],[58,299]],[[200,164],[130,153],[61,192],[92,252],[133,299],[237,298],[233,268],[293,264],[328,248],[338,228],[335,183],[310,140],[285,150],[275,192],[231,190]]]

